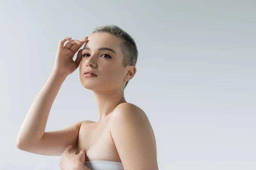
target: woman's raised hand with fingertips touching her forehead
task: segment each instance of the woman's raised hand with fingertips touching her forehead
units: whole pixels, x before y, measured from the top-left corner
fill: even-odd
[[[59,42],[57,55],[55,58],[54,66],[52,71],[68,76],[73,73],[81,62],[81,46],[88,41],[88,37],[83,40],[71,40],[70,37],[65,37]],[[65,45],[64,43],[68,41]],[[74,55],[79,50],[76,60],[74,61]]]

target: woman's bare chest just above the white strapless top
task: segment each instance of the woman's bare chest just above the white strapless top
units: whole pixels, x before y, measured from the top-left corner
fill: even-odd
[[[111,137],[108,123],[88,124],[80,127],[78,149],[86,149],[86,161],[121,161]]]

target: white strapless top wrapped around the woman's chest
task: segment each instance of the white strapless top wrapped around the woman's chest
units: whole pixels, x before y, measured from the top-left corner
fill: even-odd
[[[84,165],[90,168],[90,170],[124,170],[122,162],[85,161]]]

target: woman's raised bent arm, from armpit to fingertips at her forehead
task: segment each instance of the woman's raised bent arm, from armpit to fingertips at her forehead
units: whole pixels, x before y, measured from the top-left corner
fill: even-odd
[[[64,45],[67,40],[69,41]],[[76,151],[79,128],[82,122],[52,132],[45,132],[45,127],[58,91],[66,77],[78,68],[81,61],[79,48],[87,41],[87,37],[81,41],[66,37],[60,41],[52,72],[29,108],[20,127],[16,141],[19,149],[42,155],[60,156],[65,148],[72,144],[72,152]],[[73,57],[78,50],[77,58],[74,61]]]

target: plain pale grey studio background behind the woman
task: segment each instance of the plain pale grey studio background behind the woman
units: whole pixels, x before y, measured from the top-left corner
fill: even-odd
[[[134,37],[128,102],[148,115],[160,170],[256,169],[256,1],[0,1],[0,169],[59,169],[59,156],[18,150],[18,130],[63,37],[114,24]],[[99,119],[76,70],[46,130]]]

